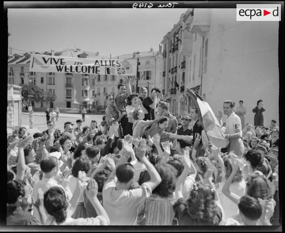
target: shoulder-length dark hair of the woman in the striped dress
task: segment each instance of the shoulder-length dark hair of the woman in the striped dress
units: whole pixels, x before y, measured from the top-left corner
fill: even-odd
[[[170,164],[158,163],[154,167],[161,177],[161,182],[152,193],[161,197],[172,195],[175,191],[177,170]]]

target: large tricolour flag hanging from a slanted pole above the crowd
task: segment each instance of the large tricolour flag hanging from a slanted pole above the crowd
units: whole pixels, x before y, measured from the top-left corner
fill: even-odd
[[[209,140],[217,147],[227,147],[227,141],[222,136],[222,128],[215,114],[208,103],[196,92],[189,91],[189,97],[192,99],[199,116],[202,117],[202,123],[205,133]]]

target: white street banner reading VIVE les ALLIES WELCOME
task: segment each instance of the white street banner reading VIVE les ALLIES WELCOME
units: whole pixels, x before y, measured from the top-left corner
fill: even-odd
[[[30,72],[136,75],[136,59],[93,59],[31,55]]]

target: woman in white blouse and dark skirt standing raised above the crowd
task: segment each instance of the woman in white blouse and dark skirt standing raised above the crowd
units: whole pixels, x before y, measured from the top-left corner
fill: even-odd
[[[145,114],[148,114],[148,110],[143,106],[143,103],[141,100],[138,98],[138,94],[130,94],[127,97],[127,107],[126,107],[126,112],[127,112],[127,117],[128,117],[128,123],[126,125],[126,135],[133,135],[133,112],[137,109],[143,110]]]

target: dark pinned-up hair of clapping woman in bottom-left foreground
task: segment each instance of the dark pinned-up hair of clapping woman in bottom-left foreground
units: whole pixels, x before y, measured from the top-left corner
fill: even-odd
[[[43,205],[46,212],[55,217],[57,223],[62,223],[66,219],[66,200],[64,190],[60,187],[52,187],[43,195]]]

